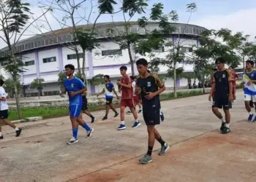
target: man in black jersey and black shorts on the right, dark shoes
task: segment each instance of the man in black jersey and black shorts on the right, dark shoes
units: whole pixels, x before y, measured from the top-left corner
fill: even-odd
[[[213,97],[212,111],[222,122],[220,130],[222,134],[230,132],[230,111],[232,108],[231,101],[232,95],[232,74],[229,70],[225,69],[225,60],[223,58],[217,58],[215,61],[218,71],[215,71],[213,77],[213,85],[211,87],[211,94],[209,100],[211,101],[211,95]],[[219,112],[219,108],[223,108],[225,112],[225,119]]]

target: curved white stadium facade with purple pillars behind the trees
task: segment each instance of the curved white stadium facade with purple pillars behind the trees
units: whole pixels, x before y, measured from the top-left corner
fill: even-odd
[[[99,39],[100,46],[92,52],[86,52],[86,76],[90,79],[97,74],[108,74],[112,82],[116,82],[120,78],[119,68],[121,66],[127,66],[128,74],[131,74],[131,66],[129,64],[128,50],[119,50],[119,46],[113,43],[110,39],[107,39],[106,31],[111,23],[97,23],[96,28],[99,34],[96,35]],[[115,26],[118,30],[124,30],[124,24],[122,22],[116,22]],[[193,45],[199,45],[198,36],[199,33],[205,31],[206,28],[197,25],[185,25],[182,23],[176,24],[176,32],[170,35],[170,39],[176,42],[178,37],[181,39],[183,49],[186,50],[187,54],[192,52]],[[86,25],[84,25],[86,27]],[[83,25],[80,25],[83,28]],[[153,31],[159,28],[158,23],[148,23],[146,29]],[[132,33],[138,32],[143,35],[144,29],[141,29],[132,23],[129,31]],[[183,32],[183,33],[180,33]],[[115,32],[114,32],[115,33]],[[179,35],[179,36],[178,36]],[[22,58],[26,64],[26,72],[20,75],[20,83],[25,85],[22,95],[24,96],[35,96],[37,90],[29,89],[29,84],[37,78],[45,80],[42,95],[59,95],[60,87],[58,82],[58,74],[64,71],[66,64],[73,64],[75,68],[78,68],[78,63],[75,55],[75,51],[71,50],[64,44],[64,42],[71,42],[75,44],[72,37],[72,30],[65,28],[54,32],[44,33],[44,35],[32,36],[28,39],[19,41],[15,47],[15,52],[19,58]],[[78,45],[79,54],[83,55],[82,49]],[[165,58],[167,55],[167,48],[155,50],[158,58]],[[7,47],[0,50],[0,56],[3,57],[7,54]],[[132,51],[132,56],[136,58],[143,58],[141,55],[136,55]],[[82,56],[80,56],[80,66],[82,67]],[[147,57],[147,56],[146,56]],[[149,58],[148,58],[149,60]],[[1,60],[0,74],[5,79],[10,78],[10,75],[4,71],[4,66],[8,63],[7,60]],[[193,65],[180,63],[178,66],[183,67],[185,72],[192,72]],[[159,74],[165,75],[167,68],[161,66]],[[165,80],[167,87],[173,87],[173,80],[167,78]],[[187,79],[178,79],[177,87],[187,86]],[[117,86],[116,86],[117,87]],[[89,82],[88,90],[92,94],[101,90],[102,87],[95,87]]]

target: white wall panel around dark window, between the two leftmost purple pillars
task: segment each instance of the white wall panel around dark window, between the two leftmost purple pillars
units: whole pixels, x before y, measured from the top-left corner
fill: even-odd
[[[44,50],[38,52],[40,73],[48,71],[59,71],[59,52],[58,49]],[[56,62],[43,63],[43,58],[56,57]]]

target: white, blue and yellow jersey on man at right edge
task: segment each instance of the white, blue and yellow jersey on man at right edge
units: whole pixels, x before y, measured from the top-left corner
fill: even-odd
[[[244,94],[256,95],[256,84],[247,85],[249,80],[256,80],[256,70],[245,72],[243,76],[244,81]]]

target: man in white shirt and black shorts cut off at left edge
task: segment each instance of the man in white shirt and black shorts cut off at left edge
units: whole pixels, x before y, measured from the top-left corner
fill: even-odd
[[[7,124],[13,129],[15,129],[16,137],[18,137],[20,136],[21,128],[16,127],[15,124],[13,124],[7,119],[9,106],[7,104],[7,93],[3,88],[3,84],[4,84],[4,81],[0,79],[0,119],[1,119],[0,122],[3,121],[4,124]],[[1,133],[1,126],[0,126],[0,139],[4,139],[4,136]]]

